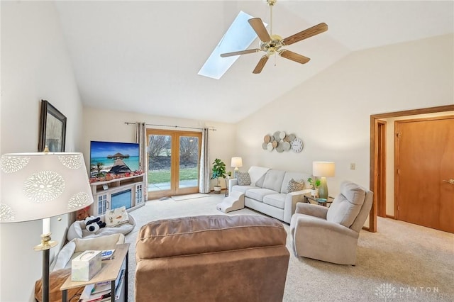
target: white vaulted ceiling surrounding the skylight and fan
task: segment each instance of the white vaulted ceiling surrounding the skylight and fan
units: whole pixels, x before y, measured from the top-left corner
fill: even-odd
[[[271,57],[253,74],[262,53],[242,55],[216,80],[197,72],[239,11],[270,23],[265,0],[55,6],[84,104],[200,121],[240,121],[351,52],[454,30],[454,1],[278,0],[273,33],[287,37],[328,24],[326,33],[287,47],[311,61]]]

